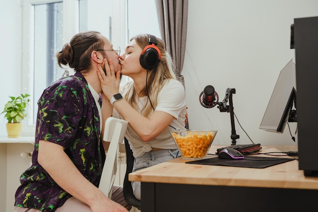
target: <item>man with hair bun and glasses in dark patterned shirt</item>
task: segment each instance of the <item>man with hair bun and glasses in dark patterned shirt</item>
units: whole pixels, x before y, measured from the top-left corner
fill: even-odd
[[[128,212],[98,189],[105,162],[102,120],[112,114],[96,74],[104,58],[119,54],[98,32],[75,35],[57,53],[60,67],[74,68],[74,76],[61,78],[46,88],[38,101],[32,165],[20,177],[15,211]],[[103,118],[102,118],[103,113]],[[112,199],[125,205],[122,188],[113,188]],[[30,209],[32,208],[32,209]]]

